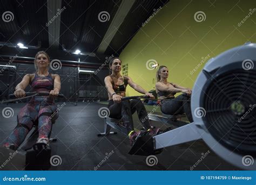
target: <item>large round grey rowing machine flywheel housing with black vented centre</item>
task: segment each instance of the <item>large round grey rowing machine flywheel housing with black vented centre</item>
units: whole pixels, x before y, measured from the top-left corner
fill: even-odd
[[[256,44],[210,59],[193,87],[191,108],[201,138],[226,161],[256,169]]]

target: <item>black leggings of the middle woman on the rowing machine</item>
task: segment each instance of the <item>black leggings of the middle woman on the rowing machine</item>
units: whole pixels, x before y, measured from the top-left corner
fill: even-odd
[[[137,111],[139,120],[142,122],[145,129],[150,128],[149,118],[147,117],[146,108],[142,101],[138,99],[125,100],[118,104],[113,102],[113,100],[110,100],[108,107],[110,110],[110,118],[123,119],[124,126],[127,129],[127,134],[134,130],[132,114],[135,111]]]

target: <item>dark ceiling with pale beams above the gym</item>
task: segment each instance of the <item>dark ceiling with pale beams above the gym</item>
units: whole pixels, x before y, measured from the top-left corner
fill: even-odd
[[[167,2],[167,0],[1,1],[0,54],[14,52],[13,50],[18,50],[19,56],[35,54],[39,50],[46,50],[51,55],[69,51],[66,57],[72,59],[74,54],[71,52],[79,49],[85,54],[84,56],[90,54],[91,60],[95,58],[94,60],[100,61],[100,58],[111,54],[118,56],[142,23],[154,10],[159,6],[163,7]],[[4,17],[8,14],[7,11],[9,17]],[[103,11],[106,15],[104,20],[99,17]],[[17,48],[18,42],[30,46],[28,51]]]

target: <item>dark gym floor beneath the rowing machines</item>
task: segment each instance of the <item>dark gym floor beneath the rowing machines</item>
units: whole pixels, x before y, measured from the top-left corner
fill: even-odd
[[[0,116],[1,145],[16,126],[16,116],[24,105],[9,104],[8,106],[14,109],[14,116],[8,119]],[[193,170],[239,170],[212,152],[203,140],[167,147],[157,155],[157,165],[148,166],[145,156],[128,154],[129,139],[124,134],[118,132],[117,135],[97,136],[104,128],[104,119],[98,116],[98,109],[103,106],[106,107],[98,102],[78,102],[77,106],[66,103],[60,110],[51,134],[51,138],[57,138],[58,141],[51,143],[51,148],[52,155],[59,155],[62,163],[51,167],[50,170],[95,170],[97,165],[100,165],[97,170],[191,170],[193,165],[197,165]],[[7,105],[0,105],[1,110],[4,107]],[[133,120],[134,127],[142,128],[136,113]],[[151,124],[166,128],[159,122]],[[106,159],[105,156],[112,150],[114,153]],[[198,162],[208,150],[210,153]],[[104,159],[106,161],[102,164]]]

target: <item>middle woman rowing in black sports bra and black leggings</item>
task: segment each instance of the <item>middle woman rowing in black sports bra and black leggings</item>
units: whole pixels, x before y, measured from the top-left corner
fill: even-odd
[[[132,114],[137,111],[140,122],[150,134],[156,134],[159,129],[151,129],[149,119],[147,117],[146,109],[141,100],[125,100],[121,101],[121,98],[125,97],[125,90],[127,85],[130,85],[134,90],[139,93],[148,95],[150,98],[154,96],[145,91],[142,87],[135,84],[130,77],[122,76],[121,71],[122,61],[120,58],[113,58],[110,61],[110,70],[112,73],[105,77],[105,86],[109,94],[109,109],[110,118],[122,118],[124,125],[127,129],[127,134],[129,135],[131,145],[133,145],[139,133],[134,131]]]

